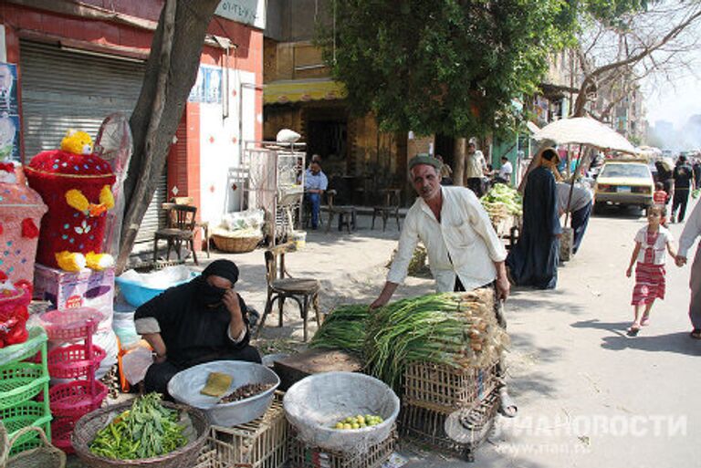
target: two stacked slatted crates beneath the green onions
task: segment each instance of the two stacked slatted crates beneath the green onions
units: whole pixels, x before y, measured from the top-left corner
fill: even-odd
[[[497,363],[455,369],[413,362],[404,372],[401,434],[472,462],[499,404]]]

